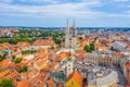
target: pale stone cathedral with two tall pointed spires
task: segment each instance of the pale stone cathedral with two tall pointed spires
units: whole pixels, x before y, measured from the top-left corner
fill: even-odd
[[[76,22],[74,20],[74,25],[72,29],[69,29],[69,24],[67,20],[67,26],[65,32],[65,48],[66,49],[75,49],[77,46],[77,29],[76,29]]]

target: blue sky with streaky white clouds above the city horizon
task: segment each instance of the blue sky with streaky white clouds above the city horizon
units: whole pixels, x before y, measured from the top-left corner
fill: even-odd
[[[0,0],[0,26],[130,26],[130,0]]]

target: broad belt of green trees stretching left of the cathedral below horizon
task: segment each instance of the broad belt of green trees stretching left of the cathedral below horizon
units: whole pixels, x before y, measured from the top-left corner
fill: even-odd
[[[13,37],[0,37],[0,44],[17,44],[18,41],[27,41],[34,44],[37,39],[52,38],[56,44],[61,44],[63,40],[64,33],[51,32],[51,30],[35,30],[35,29],[20,29],[15,32]]]

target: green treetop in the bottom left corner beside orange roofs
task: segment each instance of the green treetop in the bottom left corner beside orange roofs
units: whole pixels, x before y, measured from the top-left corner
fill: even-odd
[[[0,87],[13,87],[13,82],[9,78],[0,79]]]

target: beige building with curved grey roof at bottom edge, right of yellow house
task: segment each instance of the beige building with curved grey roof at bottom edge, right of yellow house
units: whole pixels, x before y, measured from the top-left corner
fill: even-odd
[[[88,87],[117,87],[117,73],[104,71],[95,73],[93,77],[89,75]]]

